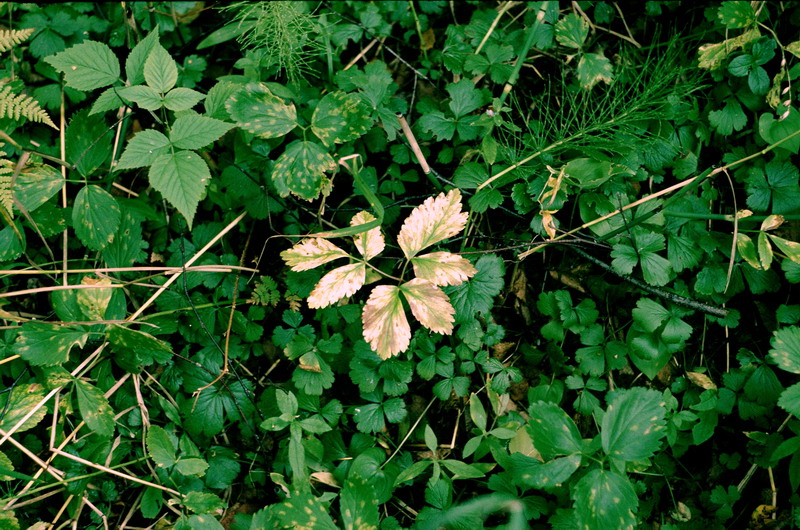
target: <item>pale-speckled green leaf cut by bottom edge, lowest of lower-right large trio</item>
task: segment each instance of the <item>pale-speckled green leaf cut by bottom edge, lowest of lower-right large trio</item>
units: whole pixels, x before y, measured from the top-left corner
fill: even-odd
[[[639,498],[627,477],[594,469],[572,490],[575,515],[581,528],[633,530]]]

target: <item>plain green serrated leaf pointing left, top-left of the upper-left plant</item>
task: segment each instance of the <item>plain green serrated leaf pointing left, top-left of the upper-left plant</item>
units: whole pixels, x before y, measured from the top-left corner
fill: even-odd
[[[106,44],[84,41],[45,59],[64,74],[68,87],[94,90],[119,79],[119,60]]]

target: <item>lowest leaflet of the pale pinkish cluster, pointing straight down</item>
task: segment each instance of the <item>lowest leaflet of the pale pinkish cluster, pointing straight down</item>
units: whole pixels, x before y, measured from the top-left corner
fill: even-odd
[[[361,322],[364,340],[382,359],[408,348],[411,327],[403,310],[399,287],[379,285],[373,289],[361,313]]]

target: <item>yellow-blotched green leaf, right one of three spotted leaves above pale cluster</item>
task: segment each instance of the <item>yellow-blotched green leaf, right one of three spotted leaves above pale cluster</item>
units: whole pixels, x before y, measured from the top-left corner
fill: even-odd
[[[369,108],[361,98],[337,91],[317,104],[311,131],[328,147],[355,140],[372,126]]]

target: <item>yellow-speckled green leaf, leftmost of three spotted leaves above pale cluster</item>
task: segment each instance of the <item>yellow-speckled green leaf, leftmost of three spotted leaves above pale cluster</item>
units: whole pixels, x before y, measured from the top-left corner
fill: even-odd
[[[239,127],[262,138],[277,138],[297,127],[294,104],[287,105],[263,83],[250,84],[228,98],[225,108]]]

